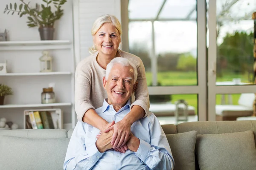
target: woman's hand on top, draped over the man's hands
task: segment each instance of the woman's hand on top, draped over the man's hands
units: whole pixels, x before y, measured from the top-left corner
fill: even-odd
[[[123,146],[128,140],[131,133],[131,123],[122,119],[111,127],[108,127],[104,132],[107,133],[109,130],[114,130],[111,144],[113,149]]]

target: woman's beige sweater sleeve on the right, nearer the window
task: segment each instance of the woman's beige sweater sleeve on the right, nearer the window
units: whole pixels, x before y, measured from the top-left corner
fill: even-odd
[[[138,71],[138,87],[135,90],[135,101],[131,104],[131,107],[134,105],[139,105],[142,107],[145,111],[145,116],[148,116],[148,110],[150,107],[149,104],[149,96],[148,96],[148,86],[147,86],[147,80],[146,80],[146,73],[145,73],[145,67],[143,65],[142,60],[138,57],[139,64],[137,65],[137,71]]]

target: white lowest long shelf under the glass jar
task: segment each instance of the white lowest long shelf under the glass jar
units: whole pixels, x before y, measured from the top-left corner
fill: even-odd
[[[39,107],[52,107],[52,106],[71,106],[71,103],[49,103],[49,104],[9,104],[9,105],[0,105],[0,108],[39,108]]]

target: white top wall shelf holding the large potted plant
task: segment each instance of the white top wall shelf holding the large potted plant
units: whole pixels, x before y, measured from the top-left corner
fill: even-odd
[[[70,49],[70,40],[3,41],[0,51]]]

